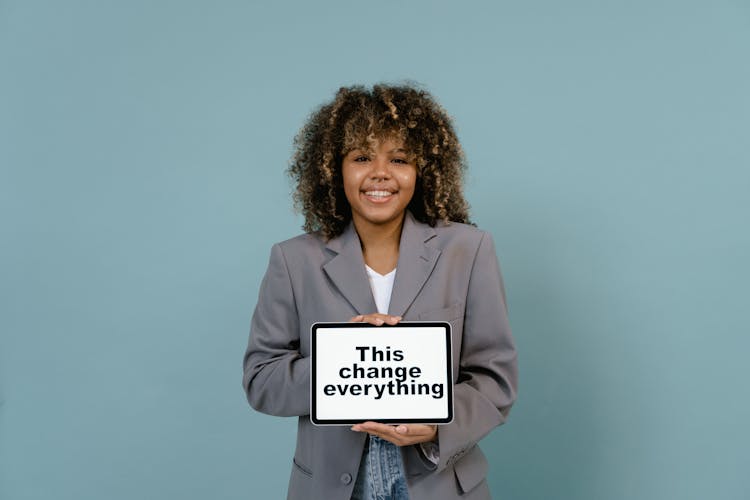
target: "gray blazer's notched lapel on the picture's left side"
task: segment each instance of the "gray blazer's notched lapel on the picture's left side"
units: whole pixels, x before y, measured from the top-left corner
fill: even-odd
[[[323,265],[323,270],[336,288],[358,314],[377,312],[354,224],[349,223],[340,236],[328,242],[326,248],[336,254]]]

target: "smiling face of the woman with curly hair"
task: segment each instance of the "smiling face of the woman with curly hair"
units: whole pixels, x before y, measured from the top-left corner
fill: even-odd
[[[350,151],[341,173],[358,229],[401,222],[417,182],[417,167],[409,160],[403,141],[386,139],[376,142],[372,151]]]

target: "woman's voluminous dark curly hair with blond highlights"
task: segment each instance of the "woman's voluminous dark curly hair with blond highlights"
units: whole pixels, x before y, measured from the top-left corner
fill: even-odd
[[[314,111],[294,139],[287,173],[295,184],[294,205],[306,232],[326,239],[340,235],[352,218],[344,195],[341,164],[354,149],[396,138],[417,166],[408,209],[430,226],[469,221],[463,195],[466,162],[451,118],[425,90],[413,85],[341,87],[333,101]]]

